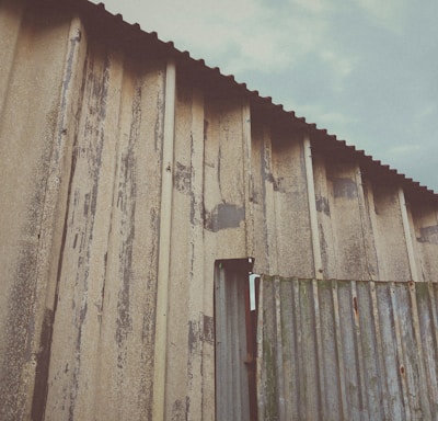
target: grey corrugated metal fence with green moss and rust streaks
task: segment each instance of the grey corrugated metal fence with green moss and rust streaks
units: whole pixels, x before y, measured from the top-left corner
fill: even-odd
[[[263,277],[264,420],[434,420],[438,285]]]

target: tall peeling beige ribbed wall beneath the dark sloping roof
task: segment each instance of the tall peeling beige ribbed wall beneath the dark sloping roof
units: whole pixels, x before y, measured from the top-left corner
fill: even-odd
[[[1,0],[0,66],[4,420],[212,419],[218,259],[438,278],[436,195],[99,7]]]

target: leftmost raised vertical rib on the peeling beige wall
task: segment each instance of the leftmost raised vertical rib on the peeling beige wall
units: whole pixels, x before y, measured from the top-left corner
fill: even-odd
[[[47,283],[44,286],[44,312],[39,317],[44,319],[41,326],[39,343],[35,342],[35,354],[38,355],[35,382],[33,385],[31,401],[31,416],[33,419],[43,419],[48,394],[49,362],[53,342],[53,325],[57,309],[58,287],[60,270],[62,268],[62,254],[66,241],[66,221],[69,207],[69,194],[71,189],[72,149],[76,136],[76,111],[78,96],[81,95],[81,83],[87,54],[87,37],[82,22],[78,15],[73,15],[70,22],[68,35],[68,48],[66,50],[64,79],[59,95],[59,114],[56,122],[54,144],[45,203],[43,207],[43,224],[39,232],[39,249],[46,250],[41,253],[37,265],[37,276]],[[53,225],[50,224],[53,221]],[[43,294],[43,291],[41,292]],[[42,298],[43,299],[43,298]]]

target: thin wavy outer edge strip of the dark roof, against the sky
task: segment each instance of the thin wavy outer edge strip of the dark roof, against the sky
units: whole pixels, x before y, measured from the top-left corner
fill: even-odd
[[[435,193],[433,190],[428,189],[426,185],[423,185],[419,182],[414,181],[413,179],[411,179],[411,178],[406,177],[405,174],[399,172],[396,169],[391,168],[389,164],[382,163],[380,160],[374,159],[371,155],[367,155],[364,150],[356,149],[356,147],[354,145],[348,145],[346,143],[346,140],[338,139],[336,135],[330,134],[326,128],[318,127],[316,123],[310,123],[310,122],[307,122],[306,117],[297,116],[295,111],[285,110],[284,105],[283,104],[276,104],[273,101],[272,96],[262,96],[257,90],[250,90],[249,87],[246,86],[246,83],[238,82],[235,77],[234,77],[234,75],[224,75],[224,73],[221,72],[219,67],[217,67],[217,66],[210,67],[205,62],[205,60],[203,58],[196,59],[196,58],[192,57],[189,52],[180,50],[178,48],[176,48],[172,41],[169,41],[169,42],[161,41],[159,38],[159,35],[158,35],[157,32],[154,32],[154,31],[152,31],[152,32],[145,31],[143,29],[141,29],[141,25],[138,22],[135,22],[135,23],[127,22],[124,19],[122,13],[113,14],[110,10],[106,9],[106,7],[105,7],[105,4],[103,2],[92,3],[90,0],[77,0],[77,1],[82,2],[82,3],[87,3],[87,4],[93,4],[93,7],[101,9],[104,13],[107,13],[107,14],[114,16],[119,22],[123,22],[123,23],[131,26],[136,31],[140,31],[140,32],[142,32],[145,34],[148,34],[148,35],[152,36],[153,38],[157,39],[157,42],[161,43],[162,45],[166,45],[169,48],[173,49],[177,55],[181,55],[181,56],[183,56],[184,58],[186,58],[188,60],[197,62],[198,65],[200,65],[205,69],[216,72],[217,76],[219,76],[221,78],[228,79],[231,83],[240,87],[240,89],[245,90],[246,93],[250,96],[253,96],[253,98],[255,96],[256,100],[263,101],[265,103],[267,102],[269,106],[273,106],[277,111],[279,111],[279,112],[281,112],[281,113],[284,113],[286,115],[289,115],[291,118],[297,120],[297,121],[301,122],[302,124],[308,125],[312,130],[315,130],[320,135],[326,136],[327,138],[333,139],[334,141],[337,141],[344,148],[348,149],[353,153],[358,155],[362,160],[370,161],[369,163],[372,163],[372,164],[381,167],[382,169],[388,171],[390,174],[395,175],[397,178],[401,178],[402,181],[404,181],[405,183],[412,184],[416,189],[419,189],[419,190],[422,190],[422,191],[424,191],[424,192],[426,192],[428,194],[433,194],[434,196],[438,197],[438,193]]]

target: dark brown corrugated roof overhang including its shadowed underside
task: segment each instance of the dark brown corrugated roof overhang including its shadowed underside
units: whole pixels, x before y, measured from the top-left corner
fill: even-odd
[[[53,1],[53,0],[42,0]],[[163,42],[158,37],[155,32],[145,32],[138,23],[130,24],[124,21],[122,14],[112,14],[105,9],[103,3],[94,4],[88,0],[64,0],[65,5],[79,7],[81,11],[85,12],[92,19],[99,19],[99,26],[106,29],[111,32],[114,42],[120,43],[123,41],[148,41],[154,44],[161,53],[173,55],[178,59],[180,64],[188,66],[193,80],[197,83],[219,84],[221,89],[233,90],[237,93],[246,95],[255,109],[261,109],[264,113],[268,113],[272,118],[279,120],[285,125],[292,125],[302,128],[312,136],[313,145],[325,151],[336,151],[337,155],[345,155],[348,159],[357,160],[358,163],[369,171],[372,178],[385,177],[388,182],[393,180],[394,183],[400,183],[407,197],[415,200],[438,202],[438,195],[427,186],[412,180],[403,173],[399,173],[395,169],[390,168],[388,164],[381,163],[372,156],[365,153],[364,150],[357,150],[354,146],[347,145],[345,140],[338,139],[335,135],[327,133],[325,128],[320,128],[315,123],[307,122],[304,117],[299,117],[293,111],[287,111],[281,104],[275,104],[270,96],[261,96],[258,91],[250,90],[246,83],[241,83],[235,80],[233,75],[222,75],[220,68],[209,67],[203,59],[195,59],[191,57],[189,53],[178,50],[173,42]],[[117,38],[117,39],[116,39]],[[138,50],[138,46],[136,45]],[[200,73],[200,75],[199,75]]]

